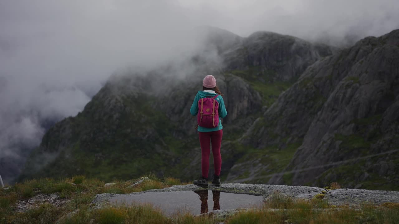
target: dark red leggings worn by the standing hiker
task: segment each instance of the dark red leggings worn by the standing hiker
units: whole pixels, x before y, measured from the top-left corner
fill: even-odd
[[[223,131],[199,132],[199,144],[201,144],[201,168],[202,176],[208,177],[209,171],[209,151],[212,142],[213,164],[215,165],[215,175],[220,176],[222,167],[222,157],[220,155],[220,145],[222,143]]]

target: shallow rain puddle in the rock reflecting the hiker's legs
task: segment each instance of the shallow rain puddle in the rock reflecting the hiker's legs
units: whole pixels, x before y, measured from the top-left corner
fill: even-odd
[[[115,204],[131,204],[134,202],[151,203],[159,206],[166,215],[178,210],[189,210],[193,215],[237,208],[252,208],[263,204],[262,196],[224,193],[220,191],[172,191],[147,192],[140,195],[119,195],[112,197]]]

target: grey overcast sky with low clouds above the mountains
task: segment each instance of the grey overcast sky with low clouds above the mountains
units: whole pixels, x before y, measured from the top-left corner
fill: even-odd
[[[397,0],[0,0],[0,158],[81,111],[115,70],[201,47],[198,27],[345,43],[399,28]]]

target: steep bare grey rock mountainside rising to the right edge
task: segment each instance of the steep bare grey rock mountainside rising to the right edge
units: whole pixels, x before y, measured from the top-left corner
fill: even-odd
[[[399,30],[306,69],[247,132],[256,147],[302,140],[269,183],[398,185]],[[271,133],[276,134],[271,134]],[[285,175],[285,177],[284,177]],[[358,185],[364,183],[364,185]]]

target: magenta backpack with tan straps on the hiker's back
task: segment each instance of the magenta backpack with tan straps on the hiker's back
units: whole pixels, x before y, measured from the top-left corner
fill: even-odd
[[[219,96],[211,98],[201,98],[198,100],[198,126],[203,128],[215,128],[219,126],[219,102],[215,99]]]

